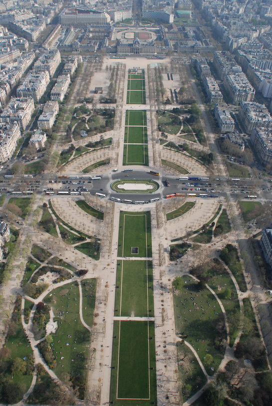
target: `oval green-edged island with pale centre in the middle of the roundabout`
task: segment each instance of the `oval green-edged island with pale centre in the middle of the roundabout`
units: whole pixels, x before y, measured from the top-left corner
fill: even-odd
[[[153,180],[119,179],[111,184],[111,189],[117,193],[154,193],[159,184]]]

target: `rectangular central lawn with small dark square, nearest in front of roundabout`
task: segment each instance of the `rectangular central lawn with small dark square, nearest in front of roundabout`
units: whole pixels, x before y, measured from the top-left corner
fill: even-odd
[[[132,254],[131,247],[138,247],[138,254]],[[118,256],[152,257],[150,211],[120,211]]]

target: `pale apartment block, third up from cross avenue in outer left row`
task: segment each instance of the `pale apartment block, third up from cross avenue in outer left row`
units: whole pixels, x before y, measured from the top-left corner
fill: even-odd
[[[35,73],[30,71],[24,78],[21,85],[17,88],[17,97],[32,97],[36,102],[46,90],[50,81],[48,71]]]

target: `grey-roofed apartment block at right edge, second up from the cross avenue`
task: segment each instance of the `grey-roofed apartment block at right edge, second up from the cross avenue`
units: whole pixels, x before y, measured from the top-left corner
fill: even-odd
[[[239,117],[249,135],[256,127],[272,129],[272,117],[264,104],[242,101],[239,107]]]

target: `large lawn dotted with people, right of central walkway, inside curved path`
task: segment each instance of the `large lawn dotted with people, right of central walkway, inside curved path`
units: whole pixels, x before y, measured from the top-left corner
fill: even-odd
[[[207,373],[214,375],[224,358],[224,348],[220,346],[220,343],[227,339],[227,334],[222,326],[219,328],[221,322],[224,324],[224,316],[212,292],[207,288],[200,291],[197,282],[190,279],[190,276],[183,276],[182,278],[187,283],[184,284],[181,291],[173,295],[176,331],[181,338],[193,345]],[[194,299],[191,300],[191,297]],[[194,305],[194,303],[197,304]],[[214,364],[205,365],[204,357],[207,354],[213,357]],[[211,368],[214,368],[214,371]]]

